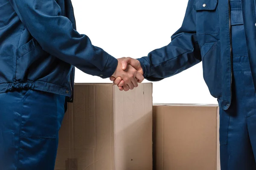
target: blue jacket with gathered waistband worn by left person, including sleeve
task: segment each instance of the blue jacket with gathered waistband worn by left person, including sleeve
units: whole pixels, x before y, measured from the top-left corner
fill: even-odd
[[[117,59],[76,31],[70,0],[0,0],[0,93],[73,94],[74,68],[111,77]]]

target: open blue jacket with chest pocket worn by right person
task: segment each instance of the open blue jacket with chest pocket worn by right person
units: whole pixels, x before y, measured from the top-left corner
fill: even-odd
[[[181,28],[169,45],[139,59],[144,77],[159,81],[203,62],[211,95],[227,110],[232,99],[232,40],[229,0],[189,0]],[[242,0],[245,36],[256,83],[256,1]],[[173,82],[175,83],[175,82]],[[246,88],[246,87],[244,87]]]

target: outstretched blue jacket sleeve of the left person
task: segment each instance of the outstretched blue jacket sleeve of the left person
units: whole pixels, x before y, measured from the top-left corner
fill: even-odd
[[[9,0],[21,22],[44,51],[102,78],[111,77],[117,59],[93,46],[89,37],[79,34],[55,0]]]

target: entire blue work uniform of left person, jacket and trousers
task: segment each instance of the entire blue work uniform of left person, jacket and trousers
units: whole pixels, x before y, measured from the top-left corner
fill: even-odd
[[[108,78],[116,66],[76,31],[70,0],[0,0],[0,170],[53,170],[74,68]]]

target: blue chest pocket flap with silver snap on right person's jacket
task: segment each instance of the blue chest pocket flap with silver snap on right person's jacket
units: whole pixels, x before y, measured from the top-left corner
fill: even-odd
[[[196,0],[194,4],[194,9],[196,11],[210,10],[213,11],[217,7],[218,0]]]

